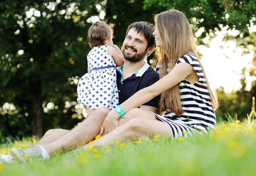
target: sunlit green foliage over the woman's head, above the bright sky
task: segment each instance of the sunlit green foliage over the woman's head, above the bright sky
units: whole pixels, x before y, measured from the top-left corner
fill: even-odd
[[[215,36],[223,27],[227,30],[237,30],[237,35],[229,35],[226,32],[226,39],[238,39],[239,46],[245,46],[247,52],[249,44],[255,45],[254,37],[250,36],[249,28],[256,24],[255,0],[144,0],[143,9],[157,9],[158,12],[169,9],[182,11],[195,32],[200,30],[201,35],[197,39],[200,44],[207,44],[202,41],[207,36]],[[250,39],[244,40],[244,38]]]

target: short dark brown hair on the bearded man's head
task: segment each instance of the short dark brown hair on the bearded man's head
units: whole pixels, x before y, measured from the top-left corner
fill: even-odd
[[[127,36],[129,30],[132,28],[134,28],[138,33],[140,33],[141,35],[143,35],[145,37],[145,39],[148,42],[147,49],[154,46],[155,39],[154,39],[154,35],[153,35],[153,32],[154,32],[153,24],[148,23],[146,21],[139,21],[139,22],[131,23],[131,25],[128,26],[125,37]]]

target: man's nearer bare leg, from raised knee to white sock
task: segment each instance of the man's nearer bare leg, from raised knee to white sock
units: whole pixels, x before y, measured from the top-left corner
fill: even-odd
[[[99,107],[97,110],[94,110],[86,120],[82,121],[81,124],[70,130],[66,135],[50,144],[43,145],[42,147],[44,147],[49,156],[52,157],[55,151],[64,151],[63,147],[76,148],[79,145],[87,144],[99,133],[102,122],[105,120],[109,112],[110,110],[108,108]]]

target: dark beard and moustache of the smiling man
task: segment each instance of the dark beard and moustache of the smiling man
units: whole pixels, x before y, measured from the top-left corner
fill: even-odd
[[[134,55],[131,55],[130,53],[127,53],[125,51],[125,49],[127,48],[130,48],[132,50],[134,50]],[[145,52],[141,52],[141,53],[137,53],[137,49],[131,47],[131,46],[128,46],[128,45],[125,45],[123,47],[123,55],[124,55],[124,58],[125,60],[131,62],[131,63],[137,63],[137,62],[140,62],[143,58],[145,58],[145,55],[146,55],[147,51],[145,50]]]

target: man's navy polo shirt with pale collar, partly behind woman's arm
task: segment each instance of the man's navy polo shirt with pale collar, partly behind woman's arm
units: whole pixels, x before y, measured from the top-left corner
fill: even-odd
[[[145,63],[138,72],[125,80],[122,78],[122,66],[116,69],[118,69],[116,70],[116,84],[118,88],[119,104],[122,104],[140,89],[151,86],[159,80],[159,75],[148,63]],[[158,109],[159,100],[160,96],[154,97],[151,101],[148,101],[140,107],[145,106]]]

